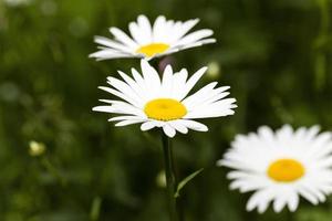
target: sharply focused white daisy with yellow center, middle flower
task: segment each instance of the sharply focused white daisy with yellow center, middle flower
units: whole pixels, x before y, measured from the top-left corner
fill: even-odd
[[[120,114],[110,122],[118,122],[115,126],[126,126],[143,123],[142,130],[163,127],[168,137],[174,137],[176,130],[187,134],[188,129],[207,131],[204,124],[195,122],[196,118],[209,118],[232,115],[235,98],[224,98],[229,86],[216,87],[212,82],[190,96],[187,96],[198,80],[206,72],[206,67],[198,70],[188,77],[187,70],[174,73],[167,65],[163,77],[147,61],[141,61],[141,75],[132,69],[133,78],[118,72],[123,80],[107,77],[112,87],[101,86],[122,101],[101,99],[106,106],[94,107],[93,110]]]

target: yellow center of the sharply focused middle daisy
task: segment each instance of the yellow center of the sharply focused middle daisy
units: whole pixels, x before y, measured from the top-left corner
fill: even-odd
[[[176,99],[157,98],[146,103],[144,113],[152,119],[168,122],[185,116],[187,108]]]

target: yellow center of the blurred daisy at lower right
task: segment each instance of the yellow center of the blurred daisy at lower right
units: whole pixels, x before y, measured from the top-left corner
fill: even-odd
[[[278,182],[292,182],[304,175],[304,167],[294,159],[278,159],[268,168],[268,176]]]

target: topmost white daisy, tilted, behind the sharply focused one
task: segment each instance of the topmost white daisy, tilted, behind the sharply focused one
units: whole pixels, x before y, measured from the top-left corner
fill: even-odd
[[[159,15],[152,25],[145,15],[138,15],[137,22],[131,22],[128,25],[132,38],[122,30],[112,27],[110,32],[115,40],[95,36],[94,41],[101,44],[98,46],[101,51],[90,54],[90,57],[96,60],[145,57],[149,60],[216,42],[215,39],[208,39],[214,33],[209,29],[201,29],[187,34],[198,21],[198,19],[186,22],[173,21]]]

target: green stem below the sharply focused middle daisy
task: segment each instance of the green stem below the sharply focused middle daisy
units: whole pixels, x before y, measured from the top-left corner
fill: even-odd
[[[180,221],[181,219],[177,211],[176,198],[174,197],[176,188],[177,188],[177,181],[176,181],[175,171],[174,171],[172,145],[170,145],[170,139],[163,131],[162,131],[162,143],[163,143],[163,150],[164,150],[169,220],[170,221]]]

